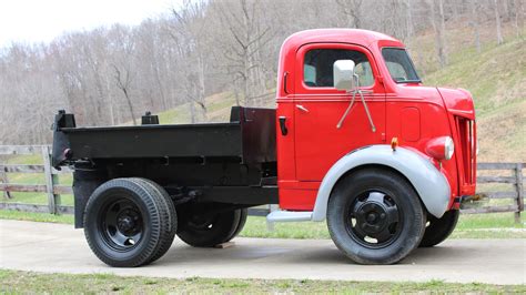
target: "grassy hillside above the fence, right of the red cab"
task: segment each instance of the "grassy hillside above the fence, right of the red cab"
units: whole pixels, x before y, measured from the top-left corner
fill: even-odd
[[[515,39],[464,57],[424,79],[427,85],[472,92],[478,122],[479,161],[526,160],[526,41]]]

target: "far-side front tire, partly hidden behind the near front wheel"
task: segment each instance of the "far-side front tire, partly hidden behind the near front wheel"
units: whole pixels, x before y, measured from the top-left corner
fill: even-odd
[[[433,247],[444,242],[455,230],[459,215],[458,210],[449,210],[441,218],[429,215],[427,218],[428,225],[418,246]]]

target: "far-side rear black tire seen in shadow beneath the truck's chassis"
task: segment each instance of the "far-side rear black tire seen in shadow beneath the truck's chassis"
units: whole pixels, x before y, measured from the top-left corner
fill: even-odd
[[[192,214],[183,221],[179,221],[181,230],[178,236],[194,247],[213,247],[229,242],[242,230],[244,225],[242,215],[242,210],[209,215]],[[241,224],[242,222],[243,224]]]

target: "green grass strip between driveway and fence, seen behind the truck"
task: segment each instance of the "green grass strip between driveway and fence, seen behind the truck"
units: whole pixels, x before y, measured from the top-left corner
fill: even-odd
[[[0,210],[0,220],[21,220],[36,222],[51,222],[73,224],[72,215],[51,215],[47,213],[28,213]],[[524,228],[526,217],[522,224],[515,224],[512,213],[494,213],[483,215],[461,215],[452,238],[526,238]],[[331,238],[324,222],[290,222],[275,223],[274,230],[267,228],[264,217],[251,216],[240,233],[244,237],[272,238]]]

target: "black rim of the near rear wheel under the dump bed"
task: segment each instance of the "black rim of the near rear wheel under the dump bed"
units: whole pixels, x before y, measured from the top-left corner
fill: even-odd
[[[135,202],[113,196],[105,202],[99,215],[99,232],[104,243],[117,251],[135,247],[144,234],[144,222]]]

